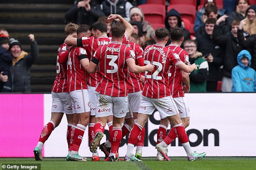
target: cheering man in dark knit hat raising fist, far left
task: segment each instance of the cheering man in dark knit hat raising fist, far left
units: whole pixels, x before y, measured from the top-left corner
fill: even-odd
[[[30,70],[31,66],[39,55],[39,49],[34,34],[28,35],[30,53],[21,50],[21,44],[16,39],[10,39],[10,54],[13,57],[13,67],[10,72],[13,79],[13,92],[31,92]]]

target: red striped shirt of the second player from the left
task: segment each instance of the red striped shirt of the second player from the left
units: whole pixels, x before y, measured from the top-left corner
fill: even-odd
[[[87,89],[86,71],[80,64],[78,57],[87,55],[86,50],[82,47],[72,46],[68,57],[67,77],[68,91]]]

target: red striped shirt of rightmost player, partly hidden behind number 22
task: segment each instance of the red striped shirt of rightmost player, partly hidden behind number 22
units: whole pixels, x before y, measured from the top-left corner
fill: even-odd
[[[167,48],[171,49],[174,55],[178,55],[183,63],[189,63],[189,55],[184,49],[176,44],[170,44],[167,46]],[[184,97],[181,70],[178,67],[173,66],[170,68],[169,73],[171,74],[171,76],[169,77],[168,82],[171,89],[172,97]]]

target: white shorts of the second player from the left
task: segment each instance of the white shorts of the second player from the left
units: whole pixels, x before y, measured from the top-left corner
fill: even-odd
[[[73,113],[90,112],[88,90],[75,90],[69,92],[73,104]]]

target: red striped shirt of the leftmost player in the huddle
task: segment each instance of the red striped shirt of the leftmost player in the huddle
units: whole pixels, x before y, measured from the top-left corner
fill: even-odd
[[[57,76],[52,86],[52,92],[61,93],[67,90],[67,62],[59,63],[59,58],[67,57],[69,52],[66,50],[66,44],[63,43],[57,52]]]

